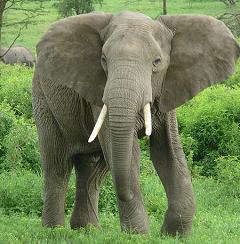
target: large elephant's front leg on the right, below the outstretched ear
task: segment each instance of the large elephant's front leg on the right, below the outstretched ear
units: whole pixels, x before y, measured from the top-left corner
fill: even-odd
[[[195,199],[178,135],[175,111],[166,114],[161,129],[150,138],[150,147],[151,159],[168,198],[161,232],[169,235],[187,234],[192,226]]]

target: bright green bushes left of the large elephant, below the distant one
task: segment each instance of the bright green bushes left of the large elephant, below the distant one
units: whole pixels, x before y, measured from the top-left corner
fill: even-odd
[[[32,120],[32,70],[0,64],[0,173],[40,172],[36,128]]]

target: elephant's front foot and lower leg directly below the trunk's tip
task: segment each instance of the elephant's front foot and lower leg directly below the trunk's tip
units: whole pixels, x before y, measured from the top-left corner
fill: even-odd
[[[132,199],[129,202],[119,200],[122,231],[136,234],[147,234],[149,231],[148,216],[142,201]]]

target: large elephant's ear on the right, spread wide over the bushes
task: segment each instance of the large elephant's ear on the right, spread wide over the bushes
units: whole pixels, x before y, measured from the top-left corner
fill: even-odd
[[[234,72],[239,45],[223,22],[208,16],[161,16],[174,32],[160,110],[168,112]]]

